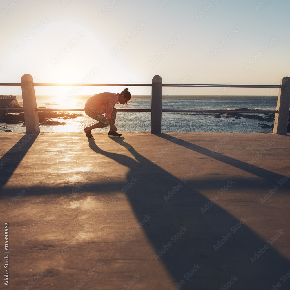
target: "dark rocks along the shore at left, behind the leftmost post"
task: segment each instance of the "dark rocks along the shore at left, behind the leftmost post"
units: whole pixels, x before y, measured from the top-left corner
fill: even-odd
[[[19,108],[23,108],[20,107]],[[40,107],[39,109],[47,109],[45,107]],[[83,116],[79,113],[69,113],[69,112],[51,112],[51,111],[39,111],[38,118],[40,125],[66,125],[66,122],[62,120],[74,119],[77,117]],[[23,112],[14,112],[14,113],[4,113],[0,112],[0,123],[6,124],[22,124],[25,126],[24,122],[24,113]],[[1,127],[1,126],[0,126]],[[1,130],[2,129],[2,130]],[[12,132],[7,126],[2,126],[0,131],[5,129],[5,132]]]

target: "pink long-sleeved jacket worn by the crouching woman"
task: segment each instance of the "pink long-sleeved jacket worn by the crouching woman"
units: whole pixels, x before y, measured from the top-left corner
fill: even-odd
[[[115,104],[119,104],[119,93],[100,93],[90,97],[85,104],[85,107],[92,110],[97,110],[103,113],[106,110],[105,117],[111,118],[113,107]]]

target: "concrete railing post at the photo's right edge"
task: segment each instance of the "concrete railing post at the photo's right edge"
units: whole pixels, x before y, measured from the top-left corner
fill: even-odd
[[[278,113],[275,115],[274,134],[286,134],[290,109],[290,77],[283,77],[277,100]]]

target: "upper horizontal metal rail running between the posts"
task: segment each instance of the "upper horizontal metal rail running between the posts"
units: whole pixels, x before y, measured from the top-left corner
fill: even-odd
[[[0,86],[21,86],[21,83],[0,83]],[[152,84],[53,84],[33,83],[33,86],[136,86],[151,87]],[[207,88],[281,88],[280,85],[218,85],[218,84],[162,84],[163,87],[207,87]]]

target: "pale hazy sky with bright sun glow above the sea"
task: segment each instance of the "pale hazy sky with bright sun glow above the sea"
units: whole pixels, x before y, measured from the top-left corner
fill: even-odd
[[[290,76],[287,0],[1,0],[0,82],[280,84]],[[124,87],[40,87],[93,95]],[[130,87],[151,94],[151,87]],[[20,86],[0,86],[21,95]],[[163,95],[278,89],[163,88]]]

